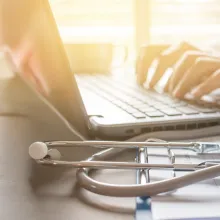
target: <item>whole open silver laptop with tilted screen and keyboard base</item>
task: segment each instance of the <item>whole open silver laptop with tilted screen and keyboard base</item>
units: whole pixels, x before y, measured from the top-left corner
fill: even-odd
[[[146,90],[136,84],[134,76],[124,80],[117,74],[73,73],[49,2],[36,2],[25,11],[23,23],[16,21],[20,35],[9,31],[4,35],[3,25],[6,45],[13,45],[12,63],[16,66],[22,60],[24,67],[16,66],[18,75],[85,137],[127,139],[146,132],[220,123],[219,108]]]

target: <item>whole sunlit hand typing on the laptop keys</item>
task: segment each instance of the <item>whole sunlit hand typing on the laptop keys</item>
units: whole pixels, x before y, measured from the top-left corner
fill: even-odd
[[[220,88],[220,58],[188,44],[143,46],[137,61],[137,82],[145,83],[149,68],[156,61],[156,68],[148,82],[153,88],[168,68],[172,74],[164,90],[174,97],[184,98],[191,93],[201,98]]]

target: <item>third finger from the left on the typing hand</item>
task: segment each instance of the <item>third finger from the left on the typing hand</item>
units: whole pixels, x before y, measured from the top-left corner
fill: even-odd
[[[196,59],[206,54],[202,51],[187,51],[173,67],[173,73],[168,81],[169,92],[171,93],[187,70],[195,63]]]

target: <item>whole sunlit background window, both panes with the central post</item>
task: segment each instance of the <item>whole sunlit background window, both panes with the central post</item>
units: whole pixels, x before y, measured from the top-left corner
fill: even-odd
[[[189,41],[205,47],[220,37],[219,0],[50,0],[64,42],[128,45]]]

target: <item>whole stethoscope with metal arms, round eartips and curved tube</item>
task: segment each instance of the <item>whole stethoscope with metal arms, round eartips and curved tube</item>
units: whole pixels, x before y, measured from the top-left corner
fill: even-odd
[[[56,147],[89,146],[105,148],[82,161],[61,160],[61,153]],[[169,164],[148,163],[148,148],[165,148],[169,157]],[[109,161],[124,150],[134,149],[137,152],[135,162]],[[154,196],[161,193],[173,192],[179,188],[220,175],[220,161],[203,161],[201,163],[176,163],[173,149],[187,149],[197,154],[219,152],[220,145],[207,142],[166,142],[161,140],[147,140],[146,142],[120,141],[51,141],[35,142],[29,147],[29,155],[40,165],[66,166],[77,169],[78,184],[93,193],[114,197]],[[108,161],[107,161],[108,160]],[[99,182],[90,176],[94,169],[133,169],[146,171],[152,169],[172,170],[174,175],[170,179],[131,185],[117,185]],[[175,171],[187,172],[183,176],[175,176]],[[141,173],[141,172],[140,172]],[[149,179],[149,178],[146,178]]]

